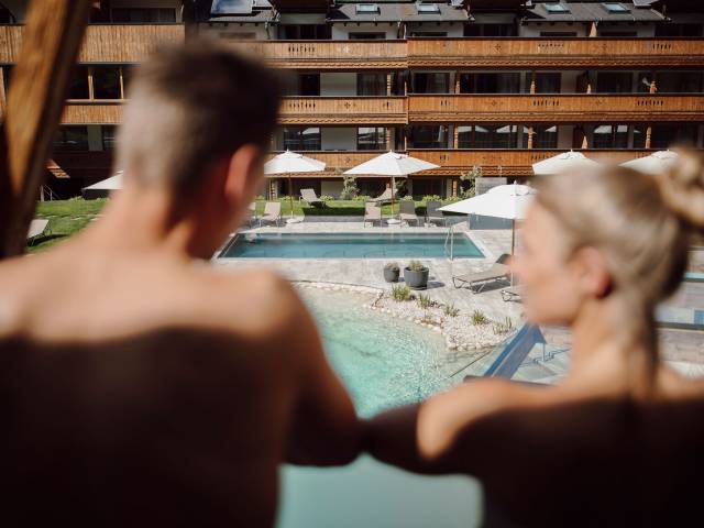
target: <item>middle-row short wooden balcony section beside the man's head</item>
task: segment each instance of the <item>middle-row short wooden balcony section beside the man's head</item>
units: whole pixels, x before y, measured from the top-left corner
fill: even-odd
[[[282,124],[406,124],[405,97],[285,97]]]

